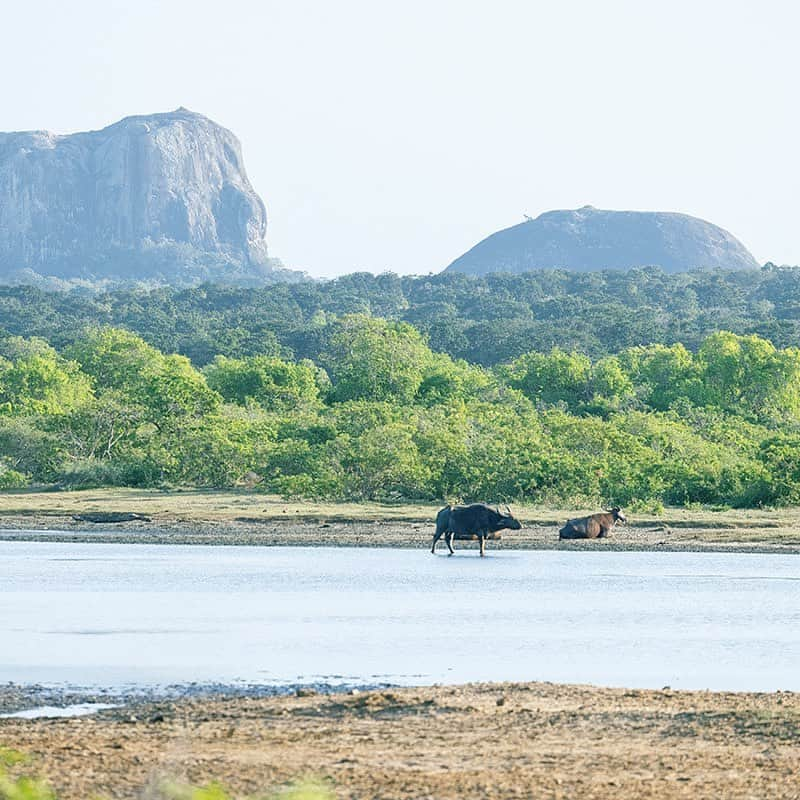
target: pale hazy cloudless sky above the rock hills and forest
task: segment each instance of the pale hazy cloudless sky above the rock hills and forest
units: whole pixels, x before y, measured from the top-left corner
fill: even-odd
[[[794,2],[0,0],[0,130],[186,106],[270,252],[427,273],[553,208],[683,211],[800,264]]]

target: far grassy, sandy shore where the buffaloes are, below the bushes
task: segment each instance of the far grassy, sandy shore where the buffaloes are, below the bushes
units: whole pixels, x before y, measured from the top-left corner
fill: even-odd
[[[252,492],[102,489],[0,492],[0,540],[162,544],[429,547],[439,504],[288,502]],[[629,513],[611,538],[560,542],[570,516],[597,509],[514,507],[521,531],[491,549],[718,550],[800,553],[800,509]],[[121,523],[87,515],[136,514]],[[82,517],[84,517],[82,519]],[[461,549],[472,543],[459,543]],[[442,552],[445,546],[440,543]]]

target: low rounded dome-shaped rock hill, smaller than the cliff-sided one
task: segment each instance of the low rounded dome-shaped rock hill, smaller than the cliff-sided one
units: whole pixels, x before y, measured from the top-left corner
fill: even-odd
[[[703,268],[757,269],[759,264],[736,237],[697,217],[584,206],[575,211],[548,211],[493,233],[445,271],[485,275],[644,266],[684,272]]]

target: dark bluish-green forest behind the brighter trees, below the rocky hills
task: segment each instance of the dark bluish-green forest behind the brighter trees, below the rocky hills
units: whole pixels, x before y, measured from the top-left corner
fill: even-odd
[[[139,334],[197,367],[215,356],[317,360],[335,318],[366,313],[407,322],[436,352],[494,366],[552,347],[592,358],[627,347],[683,343],[719,330],[800,345],[800,269],[667,274],[540,271],[473,278],[348,275],[258,289],[203,286],[91,293],[0,287],[0,332],[57,348],[84,326]]]

